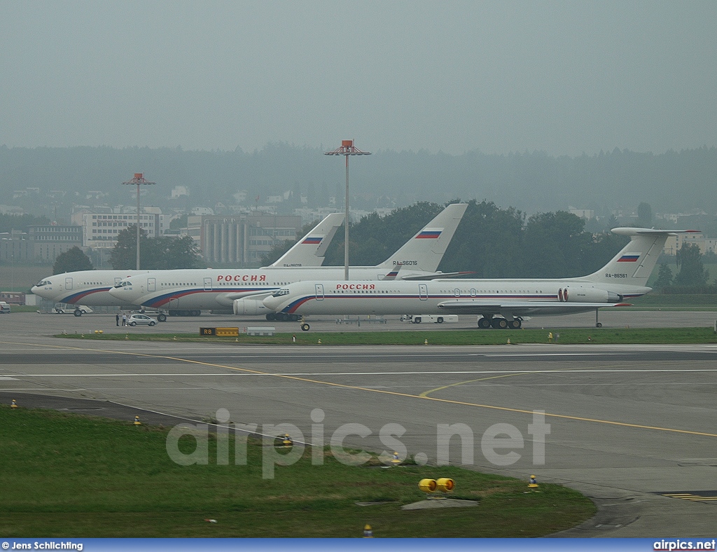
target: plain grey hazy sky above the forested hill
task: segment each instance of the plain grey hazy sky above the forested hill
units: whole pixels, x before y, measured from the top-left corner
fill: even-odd
[[[717,2],[0,0],[0,145],[717,145]]]

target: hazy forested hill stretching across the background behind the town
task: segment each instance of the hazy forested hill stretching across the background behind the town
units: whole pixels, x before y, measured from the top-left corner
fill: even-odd
[[[370,149],[367,144],[360,146]],[[328,196],[343,198],[345,184],[343,159],[323,156],[328,149],[285,143],[251,153],[0,146],[0,204],[22,203],[13,199],[13,191],[27,188],[39,189],[32,204],[42,204],[51,190],[68,192],[65,201],[72,198],[74,204],[87,203],[87,191],[109,194],[99,203],[131,204],[130,187],[120,183],[143,172],[158,184],[143,199],[151,205],[168,206],[171,189],[186,186],[190,206],[237,204],[234,194],[238,191],[247,191],[249,204],[254,204],[256,196],[263,202],[267,196],[289,191],[308,196],[310,206],[320,206],[328,202]],[[615,149],[575,158],[537,152],[486,155],[473,151],[450,156],[374,151],[350,163],[356,209],[461,198],[486,199],[529,214],[576,206],[601,215],[612,209],[635,209],[641,201],[655,212],[717,211],[714,147],[660,154]]]

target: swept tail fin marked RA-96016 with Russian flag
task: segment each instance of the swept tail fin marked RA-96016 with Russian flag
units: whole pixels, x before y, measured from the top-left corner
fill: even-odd
[[[447,206],[379,268],[389,270],[402,266],[404,270],[435,272],[467,206],[465,203]]]

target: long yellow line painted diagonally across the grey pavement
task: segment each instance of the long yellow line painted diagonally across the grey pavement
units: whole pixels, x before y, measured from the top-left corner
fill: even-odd
[[[2,342],[0,342],[2,343]],[[37,347],[37,343],[13,343],[14,345],[31,345],[33,347]],[[44,346],[44,345],[40,345]],[[331,381],[321,381],[317,379],[309,379],[309,378],[301,378],[299,376],[289,376],[287,374],[277,374],[277,373],[271,373],[271,372],[265,372],[260,370],[252,370],[251,368],[237,368],[236,366],[226,366],[224,364],[215,364],[215,363],[209,363],[209,362],[203,362],[203,361],[194,361],[190,360],[189,358],[179,358],[176,356],[165,356],[165,355],[152,355],[148,353],[133,353],[131,351],[110,351],[107,349],[91,349],[91,348],[82,348],[82,347],[67,347],[67,346],[55,346],[55,345],[49,345],[46,347],[51,348],[64,348],[64,349],[70,349],[75,351],[89,351],[93,353],[115,353],[119,355],[131,355],[131,356],[139,356],[139,357],[145,357],[145,358],[164,358],[166,360],[172,360],[177,362],[184,362],[189,364],[197,364],[199,366],[212,366],[213,368],[224,368],[226,370],[234,370],[234,371],[240,371],[244,373],[256,373],[261,376],[273,376],[275,378],[282,378],[282,379],[290,379],[293,381],[303,381],[304,383],[308,384],[316,384],[316,385],[324,385],[324,386],[331,386],[336,387],[338,389],[353,389],[355,391],[366,391],[367,393],[378,393],[378,394],[384,394],[384,395],[391,395],[391,396],[401,396],[407,399],[420,399],[423,401],[436,401],[441,402],[445,404],[456,404],[459,406],[473,406],[474,408],[480,408],[480,409],[489,409],[489,410],[500,410],[504,412],[514,412],[516,414],[530,414],[533,415],[532,410],[525,410],[525,409],[515,409],[515,408],[509,408],[508,406],[495,406],[492,404],[480,404],[480,403],[472,403],[467,401],[454,401],[451,399],[437,399],[432,396],[422,396],[422,395],[412,395],[409,393],[401,393],[399,391],[386,391],[386,389],[369,389],[366,387],[361,386],[355,386],[355,385],[346,385],[346,384],[335,384]],[[555,372],[555,370],[551,370],[552,372]],[[536,371],[536,373],[539,373],[539,371]],[[505,376],[508,375],[516,375],[516,374],[505,374]],[[521,373],[521,375],[525,375],[525,373]],[[501,376],[491,376],[491,378],[497,378]],[[427,391],[431,392],[431,391]],[[574,420],[576,422],[589,422],[593,424],[604,424],[604,425],[612,425],[617,427],[630,427],[633,429],[652,429],[653,431],[660,431],[660,432],[670,432],[670,433],[680,433],[680,434],[687,434],[687,435],[699,435],[701,437],[717,437],[717,434],[714,433],[706,433],[706,432],[693,432],[688,429],[675,429],[671,427],[658,427],[658,426],[646,426],[642,424],[630,424],[628,422],[614,422],[612,420],[602,420],[602,419],[596,419],[596,418],[583,418],[579,416],[569,416],[568,414],[551,414],[549,412],[546,412],[544,414],[547,418],[556,418],[556,419],[567,419],[567,420]]]

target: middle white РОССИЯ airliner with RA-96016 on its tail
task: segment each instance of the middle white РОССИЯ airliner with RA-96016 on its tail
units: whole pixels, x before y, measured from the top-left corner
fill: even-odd
[[[467,204],[447,206],[388,260],[374,267],[350,267],[359,280],[427,279],[462,274],[436,272],[455,234]],[[170,314],[199,313],[202,309],[232,308],[237,315],[269,315],[268,320],[298,320],[275,315],[262,300],[291,282],[343,276],[344,267],[262,267],[257,269],[168,270],[135,275],[120,282],[110,294],[118,300]],[[174,311],[174,312],[173,312]]]

